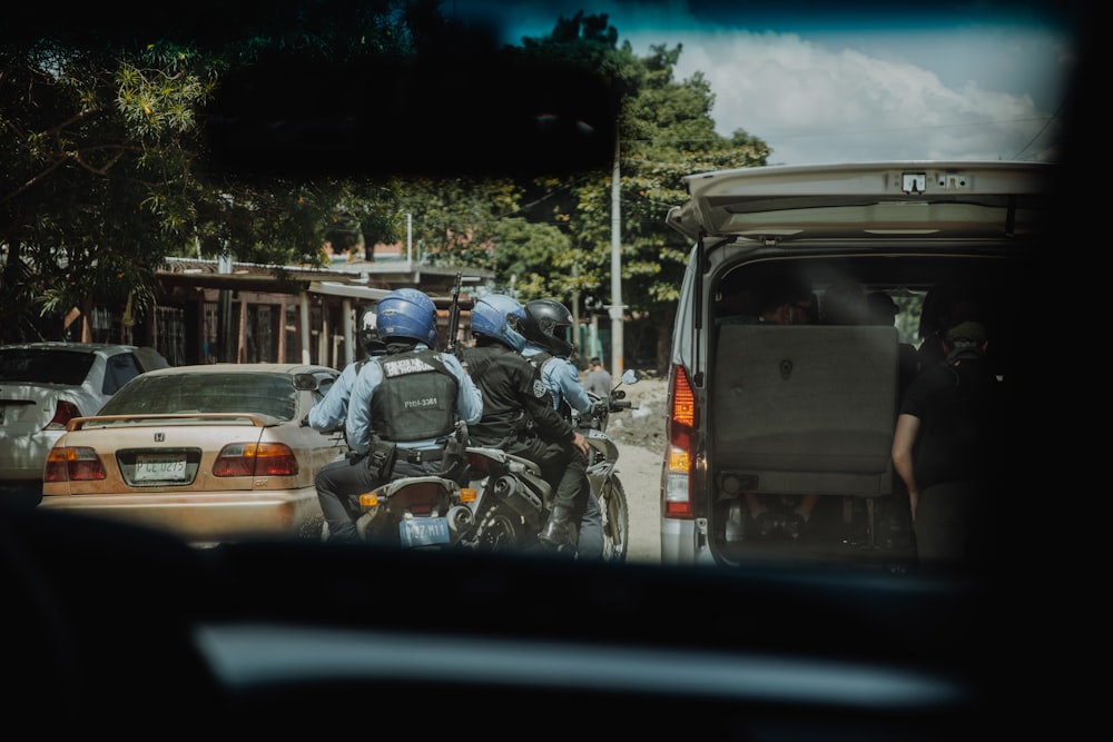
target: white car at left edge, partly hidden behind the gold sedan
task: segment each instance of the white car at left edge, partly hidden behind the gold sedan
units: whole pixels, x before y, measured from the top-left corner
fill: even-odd
[[[66,424],[96,414],[139,374],[167,366],[152,348],[134,345],[0,346],[0,496],[37,504],[42,465]]]

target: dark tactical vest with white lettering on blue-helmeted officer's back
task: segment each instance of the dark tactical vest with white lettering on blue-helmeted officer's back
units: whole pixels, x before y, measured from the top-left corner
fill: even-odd
[[[453,432],[459,384],[440,353],[397,353],[372,360],[383,369],[383,382],[371,399],[375,437],[422,441]]]

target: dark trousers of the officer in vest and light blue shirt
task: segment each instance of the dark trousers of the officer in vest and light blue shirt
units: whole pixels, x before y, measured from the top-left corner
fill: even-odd
[[[425,476],[440,472],[441,462],[411,464],[400,461],[394,464],[391,479],[400,479],[405,476]],[[325,523],[328,524],[328,541],[358,541],[355,528],[355,521],[359,516],[357,498],[363,493],[371,492],[383,484],[367,471],[366,454],[348,456],[325,464],[317,469],[314,484],[317,487],[317,502],[321,503],[321,512],[325,516]]]

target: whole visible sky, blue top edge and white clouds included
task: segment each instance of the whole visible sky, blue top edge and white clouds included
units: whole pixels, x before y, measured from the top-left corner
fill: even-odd
[[[444,9],[465,22],[490,8],[509,14],[503,43],[546,36],[558,17],[583,10],[605,13],[639,56],[681,44],[677,79],[702,72],[716,130],[764,140],[770,165],[1055,159],[1076,51],[1070,0],[927,4],[447,0]],[[885,21],[893,8],[897,23]]]

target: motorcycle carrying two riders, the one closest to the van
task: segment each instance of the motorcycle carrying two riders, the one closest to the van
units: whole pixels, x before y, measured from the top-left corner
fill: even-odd
[[[607,398],[592,397],[588,414],[573,412],[573,427],[588,441],[588,481],[603,518],[605,562],[626,561],[630,516],[626,491],[617,474],[618,446],[607,435],[611,413],[632,408],[622,384],[636,384],[641,374],[627,370]],[[461,544],[482,551],[540,548],[538,534],[552,509],[552,492],[540,467],[501,448],[467,447],[470,489],[476,493],[471,532]]]

